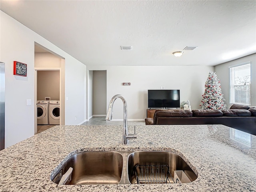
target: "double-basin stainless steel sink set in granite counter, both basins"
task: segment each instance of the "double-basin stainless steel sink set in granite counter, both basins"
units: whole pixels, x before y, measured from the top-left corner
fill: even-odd
[[[59,184],[73,168],[66,184],[174,183],[174,171],[182,170],[192,182],[197,176],[177,154],[167,151],[94,151],[74,154],[51,176]]]

